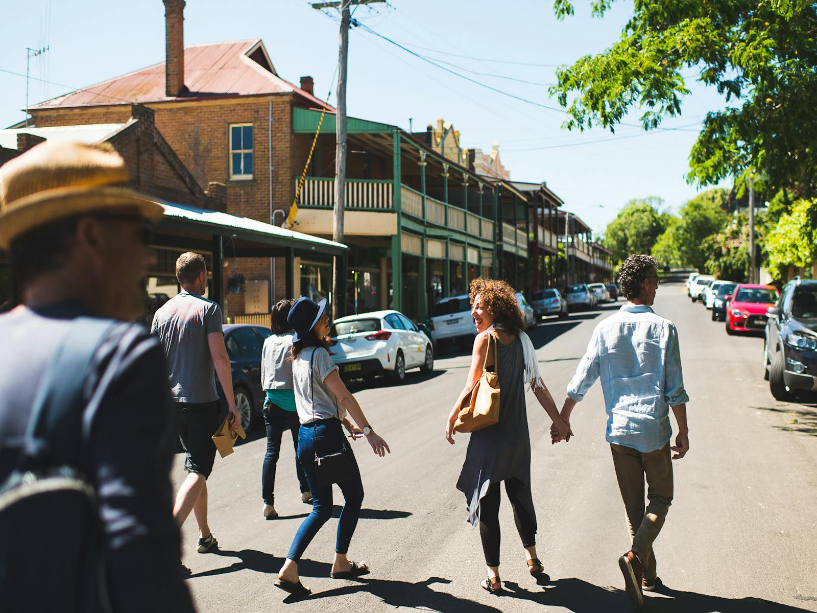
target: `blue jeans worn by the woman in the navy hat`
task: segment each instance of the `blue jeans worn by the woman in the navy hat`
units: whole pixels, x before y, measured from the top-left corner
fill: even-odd
[[[315,472],[315,449],[319,455],[331,454],[341,450],[344,441],[342,423],[336,419],[323,419],[315,426],[301,426],[298,434],[298,460],[301,462],[306,474],[306,482],[312,492],[312,512],[309,517],[298,528],[292,547],[289,548],[287,557],[292,562],[300,562],[306,548],[318,534],[329,517],[332,517],[332,485],[318,486],[318,476]],[[349,445],[346,445],[347,448]],[[352,450],[348,450],[352,454]],[[360,516],[360,505],[363,504],[363,483],[360,481],[360,471],[355,462],[355,455],[352,454],[352,472],[349,478],[337,484],[343,492],[346,503],[341,512],[341,518],[337,522],[337,539],[335,541],[335,552],[343,553],[349,551],[349,543],[352,535],[355,534],[358,517]]]

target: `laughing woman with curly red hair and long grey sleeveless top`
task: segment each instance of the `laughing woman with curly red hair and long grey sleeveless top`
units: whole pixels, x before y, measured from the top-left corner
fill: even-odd
[[[462,465],[457,489],[466,496],[471,526],[480,525],[480,538],[488,566],[488,578],[480,586],[490,593],[502,591],[499,579],[499,499],[500,484],[513,508],[516,530],[522,539],[528,562],[528,572],[540,575],[542,562],[536,555],[536,512],[530,490],[530,436],[525,406],[525,389],[534,391],[536,399],[561,436],[568,436],[569,427],[547,387],[539,376],[534,345],[525,334],[525,320],[516,302],[516,293],[505,281],[475,279],[471,281],[471,316],[477,335],[471,353],[471,369],[465,387],[451,409],[445,437],[454,444],[454,424],[460,405],[479,380],[483,365],[498,374],[501,390],[499,422],[471,433],[465,463]],[[493,337],[493,338],[489,338]],[[497,347],[496,364],[488,356],[489,343]]]

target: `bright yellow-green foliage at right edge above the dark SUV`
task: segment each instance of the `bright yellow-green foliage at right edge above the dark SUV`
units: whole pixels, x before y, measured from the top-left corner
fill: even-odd
[[[791,213],[783,213],[764,240],[767,266],[775,279],[784,279],[788,266],[810,271],[817,260],[817,200],[798,200]]]

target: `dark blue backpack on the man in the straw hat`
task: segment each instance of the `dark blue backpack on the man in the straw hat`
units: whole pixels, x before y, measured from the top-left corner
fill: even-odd
[[[83,387],[114,325],[74,320],[43,375],[20,460],[0,484],[4,613],[111,611],[96,492],[78,466],[93,421]]]

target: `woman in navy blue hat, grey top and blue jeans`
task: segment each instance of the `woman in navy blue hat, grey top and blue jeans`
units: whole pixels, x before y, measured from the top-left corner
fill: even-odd
[[[391,452],[386,441],[375,434],[329,356],[326,299],[313,302],[306,297],[298,298],[292,304],[287,320],[295,329],[292,337],[292,383],[295,388],[295,407],[301,422],[298,459],[312,492],[312,512],[298,528],[275,585],[289,593],[306,596],[310,589],[301,584],[298,562],[321,526],[332,517],[333,508],[332,485],[318,485],[315,456],[341,450],[346,438],[344,427],[353,440],[365,436],[368,444],[372,445],[373,452],[380,457]],[[356,426],[347,415],[355,420]],[[365,562],[352,562],[346,556],[357,526],[360,505],[363,503],[363,483],[360,481],[355,456],[348,448],[346,453],[350,454],[351,461],[348,478],[337,484],[346,503],[337,522],[335,560],[331,573],[333,579],[367,575],[369,571]]]

